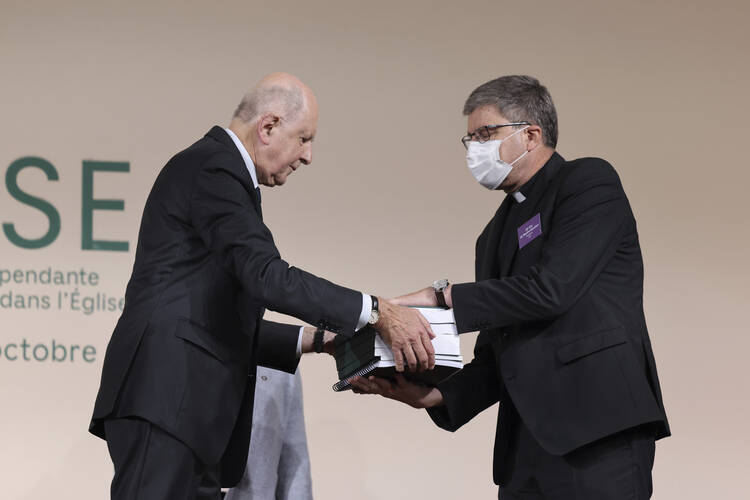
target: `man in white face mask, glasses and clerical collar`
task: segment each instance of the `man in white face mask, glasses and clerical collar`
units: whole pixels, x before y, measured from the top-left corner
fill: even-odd
[[[474,359],[437,388],[399,377],[354,382],[455,431],[500,403],[499,498],[644,499],[654,441],[670,434],[643,314],[643,261],[617,173],[555,152],[547,89],[505,76],[474,90],[467,166],[510,194],[476,243],[476,282],[432,287],[402,305],[453,307],[480,331]]]

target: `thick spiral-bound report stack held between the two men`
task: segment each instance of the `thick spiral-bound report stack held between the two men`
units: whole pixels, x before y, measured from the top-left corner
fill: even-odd
[[[435,349],[435,368],[423,372],[404,371],[407,379],[427,385],[438,382],[463,368],[461,344],[456,330],[456,319],[452,309],[440,307],[416,307],[430,322],[435,334],[432,346]],[[333,384],[334,391],[351,389],[349,381],[353,377],[375,375],[394,378],[396,374],[393,352],[383,338],[372,327],[365,326],[354,336],[337,340],[336,369],[339,381]]]

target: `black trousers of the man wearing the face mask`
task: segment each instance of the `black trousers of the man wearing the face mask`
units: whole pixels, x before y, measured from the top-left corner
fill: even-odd
[[[645,500],[651,498],[654,432],[635,427],[567,455],[547,453],[523,423],[510,453],[513,473],[501,500]]]

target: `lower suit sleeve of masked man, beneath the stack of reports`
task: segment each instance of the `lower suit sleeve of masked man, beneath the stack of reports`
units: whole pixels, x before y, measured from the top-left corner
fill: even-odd
[[[456,431],[498,401],[498,368],[489,341],[486,332],[480,333],[471,363],[438,384],[443,405],[427,413],[441,429]]]

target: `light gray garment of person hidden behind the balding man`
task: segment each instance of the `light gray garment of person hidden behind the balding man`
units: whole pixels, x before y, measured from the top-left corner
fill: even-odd
[[[225,500],[312,499],[302,379],[258,367],[247,468]]]

